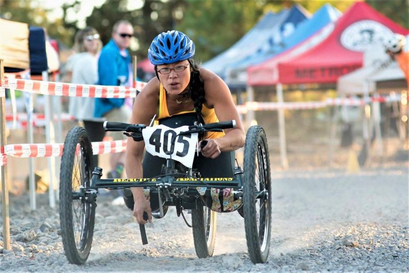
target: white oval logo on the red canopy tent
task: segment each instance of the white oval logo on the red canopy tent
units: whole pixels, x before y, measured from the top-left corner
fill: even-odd
[[[374,45],[382,45],[383,39],[393,32],[373,20],[361,20],[348,26],[340,37],[341,44],[352,51],[363,52]]]

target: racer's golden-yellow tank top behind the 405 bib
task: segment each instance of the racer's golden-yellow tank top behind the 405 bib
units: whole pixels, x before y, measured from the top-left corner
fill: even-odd
[[[166,91],[161,83],[160,92],[159,92],[159,116],[155,120],[160,120],[162,118],[167,118],[174,115],[186,114],[186,113],[194,113],[195,110],[192,111],[182,111],[173,115],[169,115],[168,112],[168,105],[166,103]],[[213,123],[219,122],[219,119],[216,116],[213,108],[207,108],[205,104],[203,104],[201,109],[201,114],[203,115],[203,119],[205,123]],[[219,138],[224,136],[224,132],[208,132],[208,138]]]

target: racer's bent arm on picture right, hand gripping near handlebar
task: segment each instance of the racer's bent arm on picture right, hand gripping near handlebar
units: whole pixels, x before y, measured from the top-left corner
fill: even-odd
[[[200,69],[200,74],[205,83],[207,106],[214,108],[219,121],[236,121],[236,128],[226,129],[225,135],[221,138],[208,139],[208,144],[201,149],[203,156],[215,158],[220,152],[241,148],[244,145],[245,133],[228,86],[219,76],[207,69]]]

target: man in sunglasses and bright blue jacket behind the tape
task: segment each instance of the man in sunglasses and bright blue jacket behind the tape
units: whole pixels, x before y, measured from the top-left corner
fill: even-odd
[[[127,20],[120,20],[112,29],[112,38],[101,51],[98,59],[99,84],[103,86],[131,86],[132,66],[127,48],[133,36],[133,27]],[[123,98],[96,98],[95,117],[109,121],[128,122],[131,110]],[[126,137],[122,132],[110,132],[113,140]],[[108,178],[120,178],[124,169],[124,153],[110,155],[111,171]]]

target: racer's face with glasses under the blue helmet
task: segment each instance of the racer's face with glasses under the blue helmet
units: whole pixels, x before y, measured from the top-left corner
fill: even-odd
[[[170,73],[164,74],[169,72],[169,69]],[[156,70],[158,71],[159,80],[168,94],[179,95],[189,86],[191,67],[188,60],[181,60],[173,64],[158,65]]]

